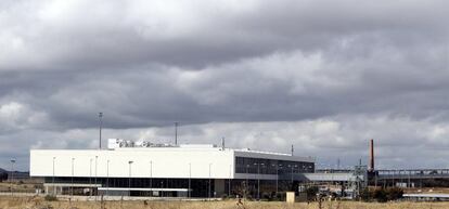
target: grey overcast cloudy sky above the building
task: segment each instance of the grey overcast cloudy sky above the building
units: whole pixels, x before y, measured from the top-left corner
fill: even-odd
[[[449,167],[444,0],[2,0],[0,167],[106,139]]]

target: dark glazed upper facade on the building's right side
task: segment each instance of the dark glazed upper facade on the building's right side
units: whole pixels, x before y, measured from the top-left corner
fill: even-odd
[[[235,173],[288,174],[313,171],[313,162],[235,157]]]

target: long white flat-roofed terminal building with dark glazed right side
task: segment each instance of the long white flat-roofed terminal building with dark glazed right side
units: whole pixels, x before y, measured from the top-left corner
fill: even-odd
[[[313,171],[311,157],[208,144],[111,139],[107,149],[30,151],[30,175],[57,195],[258,198],[292,190],[294,177]]]

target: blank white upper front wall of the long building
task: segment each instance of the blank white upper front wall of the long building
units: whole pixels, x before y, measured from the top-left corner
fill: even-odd
[[[189,178],[189,164],[191,164],[192,178],[228,179],[234,177],[234,152],[219,148],[119,148],[116,151],[98,149],[31,149],[30,175],[52,177],[53,157],[55,177],[72,177],[72,158],[74,160],[74,177],[128,178],[129,164],[132,178]],[[90,159],[92,164],[90,165]]]

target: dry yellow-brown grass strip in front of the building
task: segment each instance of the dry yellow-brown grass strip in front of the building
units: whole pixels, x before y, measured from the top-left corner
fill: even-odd
[[[101,209],[94,201],[46,201],[33,197],[0,197],[0,209]],[[235,201],[106,201],[106,209],[238,209]],[[242,207],[240,207],[242,208]],[[319,209],[318,204],[247,201],[245,209]],[[449,203],[323,203],[322,209],[449,209]]]

